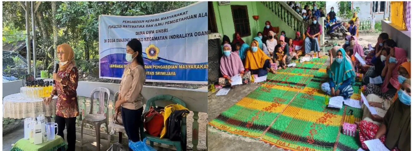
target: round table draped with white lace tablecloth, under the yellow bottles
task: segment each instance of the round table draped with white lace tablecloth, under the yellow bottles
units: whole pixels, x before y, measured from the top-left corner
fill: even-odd
[[[43,103],[43,98],[26,98],[20,93],[11,94],[3,98],[3,118],[26,118],[37,117],[44,112],[45,116],[50,117],[56,114],[55,96],[49,105]]]

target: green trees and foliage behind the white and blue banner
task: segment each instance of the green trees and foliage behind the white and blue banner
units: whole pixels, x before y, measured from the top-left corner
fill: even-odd
[[[54,64],[51,60],[54,58],[55,48],[50,49],[53,45],[53,20],[57,21],[57,44],[71,45],[80,72],[88,74],[99,67],[98,21],[101,14],[119,16],[157,14],[176,10],[192,3],[195,2],[57,2],[57,14],[52,16],[52,2],[44,1],[38,9],[43,17],[41,23],[44,28],[41,27],[40,19],[36,16],[36,45],[39,49],[38,55],[48,56],[49,61],[45,61],[47,57],[40,59],[38,66],[50,69]],[[3,2],[3,35],[26,33],[25,15],[19,2]],[[3,43],[22,40],[25,40],[25,36],[3,36]]]

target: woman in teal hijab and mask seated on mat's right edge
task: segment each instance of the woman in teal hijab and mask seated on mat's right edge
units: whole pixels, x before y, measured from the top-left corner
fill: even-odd
[[[354,77],[356,74],[351,69],[351,63],[345,59],[345,51],[339,48],[337,57],[329,69],[329,82],[321,84],[321,90],[330,96],[342,96],[344,99],[353,95]]]

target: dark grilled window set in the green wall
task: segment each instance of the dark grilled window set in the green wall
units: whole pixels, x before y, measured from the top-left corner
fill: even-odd
[[[239,32],[241,37],[250,36],[251,29],[249,28],[247,6],[231,5],[231,11],[233,13],[235,32]]]

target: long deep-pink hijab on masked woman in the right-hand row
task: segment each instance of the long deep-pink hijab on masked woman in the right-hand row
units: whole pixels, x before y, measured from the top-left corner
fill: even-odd
[[[392,84],[392,86],[394,86],[396,89],[400,87],[399,84],[399,80],[397,79],[397,77],[399,76],[398,67],[404,63],[407,62],[407,58],[406,58],[406,50],[402,49],[402,48],[397,48],[394,47],[394,57],[397,60],[396,63],[396,67],[395,69],[392,69],[392,73],[391,75],[389,74],[389,72],[387,72],[386,77],[385,77],[385,81],[383,81],[383,85],[382,85],[382,92],[386,93],[387,91],[389,91],[389,89],[387,88],[387,86],[390,84]]]

